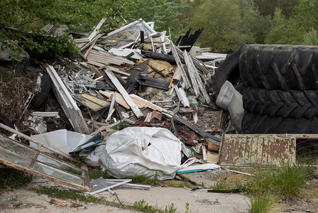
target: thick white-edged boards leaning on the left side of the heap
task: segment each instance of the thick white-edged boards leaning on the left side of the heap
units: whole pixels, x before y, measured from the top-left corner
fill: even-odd
[[[89,128],[82,116],[82,111],[80,111],[80,109],[77,107],[75,100],[72,98],[70,92],[67,91],[65,84],[57,75],[54,67],[48,65],[46,67],[46,71],[53,81],[53,88],[55,96],[57,97],[57,101],[60,103],[67,116],[67,119],[69,119],[75,131],[89,134]]]

